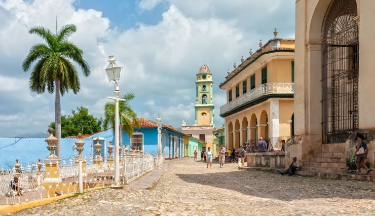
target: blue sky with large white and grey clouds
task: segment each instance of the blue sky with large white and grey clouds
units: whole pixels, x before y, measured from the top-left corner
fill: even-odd
[[[28,86],[30,71],[22,61],[33,44],[44,41],[28,33],[32,26],[73,23],[69,38],[84,51],[91,74],[79,71],[81,91],[61,97],[62,115],[85,106],[103,117],[114,85],[104,68],[109,55],[123,67],[121,94],[133,92],[137,115],[176,128],[195,120],[195,81],[207,64],[214,81],[216,127],[226,92],[218,87],[258,43],[294,38],[294,0],[0,0],[0,136],[40,133],[54,121],[54,94],[36,94]]]

